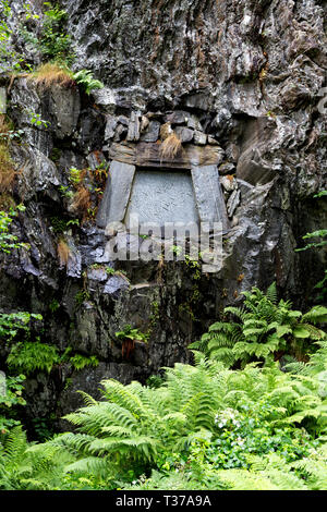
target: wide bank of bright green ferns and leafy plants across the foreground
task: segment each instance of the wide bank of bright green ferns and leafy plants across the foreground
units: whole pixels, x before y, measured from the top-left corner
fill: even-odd
[[[230,370],[195,352],[159,388],[102,381],[77,432],[2,437],[2,489],[326,489],[326,341],[304,374]],[[323,370],[322,370],[323,368]]]

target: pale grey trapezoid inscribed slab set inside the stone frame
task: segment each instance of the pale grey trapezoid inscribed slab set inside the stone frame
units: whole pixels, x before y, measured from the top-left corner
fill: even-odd
[[[190,172],[136,170],[128,207],[140,223],[198,222]]]

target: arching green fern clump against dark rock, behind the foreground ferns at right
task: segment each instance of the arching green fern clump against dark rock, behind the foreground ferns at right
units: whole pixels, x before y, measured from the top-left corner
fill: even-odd
[[[223,362],[228,367],[251,361],[271,363],[276,354],[302,355],[304,343],[326,338],[316,324],[325,322],[327,308],[315,306],[305,315],[291,309],[290,301],[277,302],[275,283],[264,294],[257,288],[244,292],[243,307],[226,307],[239,321],[218,321],[191,349]]]

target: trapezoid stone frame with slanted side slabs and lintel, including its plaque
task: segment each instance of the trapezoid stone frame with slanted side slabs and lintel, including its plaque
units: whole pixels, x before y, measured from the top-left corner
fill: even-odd
[[[126,222],[137,214],[141,223],[221,222],[228,229],[217,166],[221,149],[187,145],[173,159],[162,159],[160,144],[113,144],[110,171],[97,224]]]

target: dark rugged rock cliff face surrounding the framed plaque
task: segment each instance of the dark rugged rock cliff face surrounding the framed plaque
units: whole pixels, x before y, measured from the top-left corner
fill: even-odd
[[[13,45],[38,63],[20,33],[23,2],[9,3]],[[100,363],[29,379],[28,416],[74,409],[76,389],[94,394],[102,378],[144,380],[162,365],[190,361],[187,344],[252,285],[277,281],[305,307],[325,257],[294,253],[326,216],[326,205],[313,199],[326,187],[325,2],[61,4],[74,69],[92,70],[105,88],[86,96],[75,85],[45,90],[24,76],[2,75],[8,114],[24,131],[11,147],[19,170],[13,197],[26,206],[14,229],[31,251],[2,259],[0,307],[41,313],[44,342]],[[41,16],[41,2],[31,5]],[[37,22],[29,25],[37,34]],[[31,124],[31,112],[46,123]],[[100,171],[113,160],[145,164],[167,124],[187,156],[168,167],[209,163],[219,172],[229,229],[216,273],[183,261],[112,263],[105,254],[96,221],[106,184]],[[71,168],[85,171],[86,206],[71,197]],[[126,324],[150,333],[129,361],[114,337]]]

